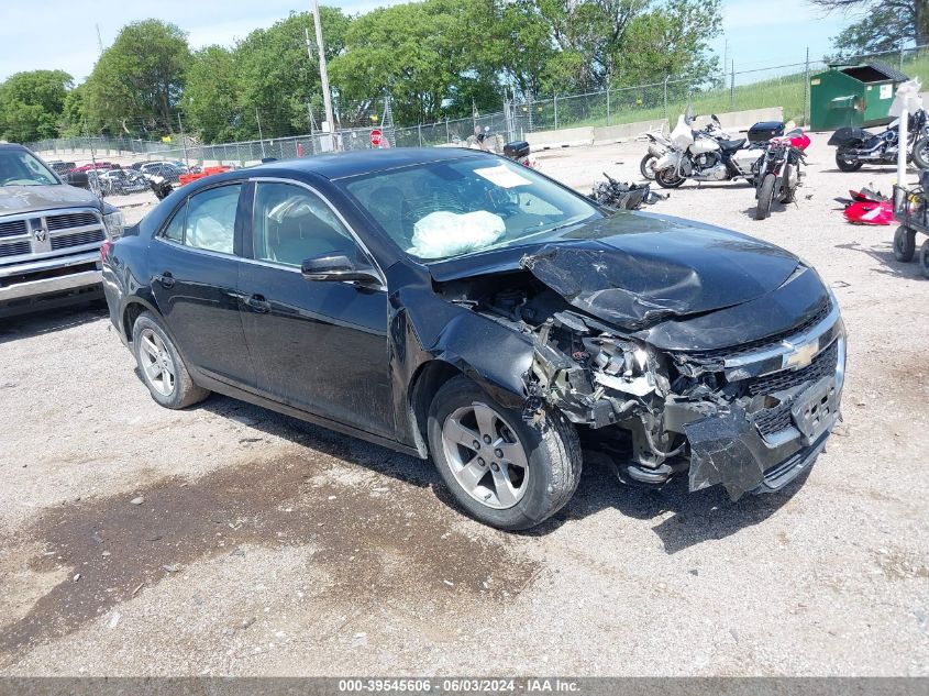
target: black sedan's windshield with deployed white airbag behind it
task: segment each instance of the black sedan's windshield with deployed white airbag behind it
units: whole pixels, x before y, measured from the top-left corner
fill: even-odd
[[[601,217],[532,169],[491,157],[379,172],[344,187],[400,248],[423,261],[542,240]]]

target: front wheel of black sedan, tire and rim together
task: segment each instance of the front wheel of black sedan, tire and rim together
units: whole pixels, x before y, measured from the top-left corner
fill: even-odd
[[[529,529],[557,512],[577,489],[577,431],[557,411],[545,410],[539,422],[527,423],[520,410],[500,406],[460,376],[436,393],[427,427],[445,486],[484,524]]]

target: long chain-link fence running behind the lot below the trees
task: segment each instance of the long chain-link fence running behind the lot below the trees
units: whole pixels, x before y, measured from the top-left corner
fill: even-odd
[[[920,46],[870,56],[848,57],[848,63],[880,59],[910,77],[929,73],[929,47]],[[727,66],[725,66],[727,67]],[[539,131],[582,126],[609,126],[640,121],[666,119],[674,123],[688,106],[694,113],[726,113],[782,107],[785,120],[809,122],[809,77],[827,68],[823,60],[785,63],[776,66],[746,67],[734,70],[730,63],[715,79],[694,84],[667,76],[661,81],[635,86],[616,86],[602,91],[579,95],[551,95],[542,98],[526,95],[519,100],[501,100],[499,110],[472,118],[446,119],[435,123],[397,126],[391,115],[389,97],[356,104],[338,103],[335,133],[323,132],[319,104],[307,104],[306,128],[290,117],[262,114],[254,120],[259,137],[237,142],[202,143],[189,135],[195,129],[179,115],[172,118],[173,130],[179,131],[172,142],[89,134],[30,143],[30,147],[55,157],[81,154],[106,158],[123,155],[144,159],[177,159],[190,164],[219,163],[244,166],[262,159],[289,159],[335,148],[373,147],[371,132],[378,129],[383,146],[420,147],[465,145],[487,129],[494,142],[524,140]],[[245,114],[217,114],[226,121]],[[251,121],[250,121],[251,123]],[[301,132],[302,131],[302,132]]]

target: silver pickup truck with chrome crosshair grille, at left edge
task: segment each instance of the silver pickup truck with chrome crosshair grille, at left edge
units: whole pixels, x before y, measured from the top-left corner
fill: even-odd
[[[100,246],[122,229],[117,208],[0,144],[0,317],[101,297]]]

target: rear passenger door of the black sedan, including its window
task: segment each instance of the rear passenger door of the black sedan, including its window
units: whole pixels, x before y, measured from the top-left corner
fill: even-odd
[[[184,360],[221,382],[255,388],[239,312],[245,205],[241,181],[185,200],[150,247],[152,289]]]

